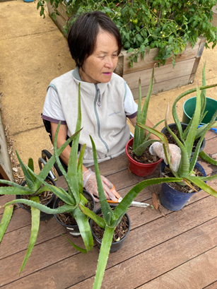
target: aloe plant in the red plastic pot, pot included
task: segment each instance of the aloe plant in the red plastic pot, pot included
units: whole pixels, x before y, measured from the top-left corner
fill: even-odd
[[[151,97],[151,90],[153,88],[153,75],[154,75],[154,68],[151,75],[151,83],[149,85],[148,94],[146,96],[146,100],[143,104],[142,110],[141,110],[141,80],[139,79],[139,104],[136,122],[144,125],[146,124],[148,103]],[[158,124],[160,124],[161,122],[163,122],[163,120],[158,122]],[[153,127],[156,128],[158,124],[156,124]],[[153,143],[154,141],[157,141],[155,139],[148,139],[149,136],[150,133],[147,134],[146,136],[145,129],[139,126],[135,126],[134,138],[131,138],[125,147],[125,153],[129,160],[129,170],[131,170],[131,172],[133,172],[135,175],[138,175],[139,177],[152,175],[153,172],[156,170],[158,163],[162,161],[162,159],[156,156],[152,156],[148,152],[148,146],[150,146],[151,143]],[[146,155],[144,155],[145,152]]]

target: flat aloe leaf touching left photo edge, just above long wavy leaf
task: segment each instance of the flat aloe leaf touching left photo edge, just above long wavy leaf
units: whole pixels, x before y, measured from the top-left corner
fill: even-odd
[[[20,186],[14,182],[9,182],[1,179],[0,184],[9,184],[14,187],[0,187],[0,195],[20,195],[20,194],[34,194],[35,190],[28,189],[28,187]]]

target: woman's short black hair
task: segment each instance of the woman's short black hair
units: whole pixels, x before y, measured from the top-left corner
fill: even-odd
[[[87,57],[93,54],[100,30],[110,33],[117,40],[118,52],[122,49],[122,38],[115,23],[100,11],[83,13],[71,26],[68,45],[71,57],[80,68]]]

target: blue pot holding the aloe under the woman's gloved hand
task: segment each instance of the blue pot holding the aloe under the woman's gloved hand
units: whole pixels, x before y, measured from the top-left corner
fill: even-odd
[[[163,162],[160,167],[161,177],[164,167],[165,163]],[[196,163],[195,168],[197,168],[204,175],[204,177],[206,177],[206,172],[199,163]],[[182,191],[172,189],[168,183],[164,183],[161,185],[160,202],[170,211],[179,211],[194,194],[196,194],[196,191],[193,193],[182,193]]]

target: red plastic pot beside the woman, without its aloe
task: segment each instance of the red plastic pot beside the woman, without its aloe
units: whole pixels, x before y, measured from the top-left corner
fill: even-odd
[[[133,160],[131,156],[128,153],[129,146],[133,146],[134,138],[131,138],[127,145],[125,146],[125,153],[127,155],[127,158],[129,160],[129,170],[134,173],[134,175],[139,177],[146,177],[153,174],[153,172],[156,170],[158,164],[162,162],[162,158],[158,160],[156,163],[139,163],[136,162],[136,160]]]

